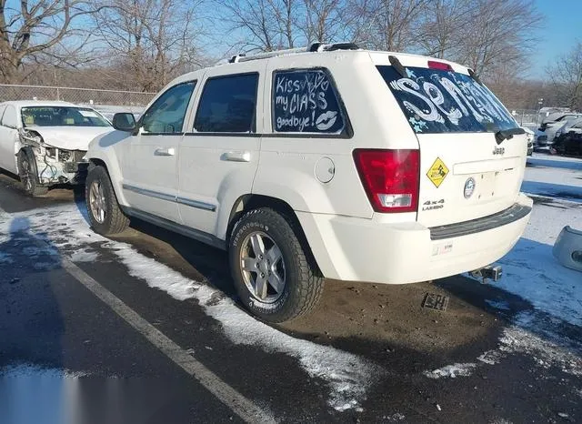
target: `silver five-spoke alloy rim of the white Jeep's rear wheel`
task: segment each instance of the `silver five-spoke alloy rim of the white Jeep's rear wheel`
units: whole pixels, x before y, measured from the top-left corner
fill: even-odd
[[[263,232],[246,236],[240,251],[240,267],[246,288],[257,300],[274,303],[286,284],[285,261],[273,238]]]

